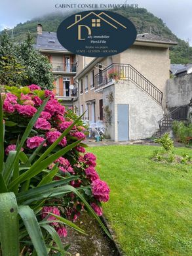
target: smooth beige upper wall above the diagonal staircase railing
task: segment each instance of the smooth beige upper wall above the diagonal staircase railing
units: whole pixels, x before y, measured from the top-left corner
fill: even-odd
[[[134,45],[121,55],[121,63],[131,64],[163,93],[166,106],[166,80],[170,77],[169,50],[160,47]]]

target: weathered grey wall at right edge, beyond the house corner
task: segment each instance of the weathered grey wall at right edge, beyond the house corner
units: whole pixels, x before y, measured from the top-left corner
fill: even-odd
[[[168,79],[166,90],[168,108],[189,104],[192,97],[192,74]]]

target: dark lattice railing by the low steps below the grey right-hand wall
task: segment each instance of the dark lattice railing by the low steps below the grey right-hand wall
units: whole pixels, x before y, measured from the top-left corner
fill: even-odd
[[[168,129],[172,127],[172,123],[174,120],[182,121],[187,120],[189,118],[189,105],[179,106],[175,108],[168,115],[164,116],[161,120],[159,120],[159,129]]]

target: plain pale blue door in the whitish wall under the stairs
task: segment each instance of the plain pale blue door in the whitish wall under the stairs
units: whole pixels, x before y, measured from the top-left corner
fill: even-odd
[[[118,141],[128,140],[128,104],[117,104]]]

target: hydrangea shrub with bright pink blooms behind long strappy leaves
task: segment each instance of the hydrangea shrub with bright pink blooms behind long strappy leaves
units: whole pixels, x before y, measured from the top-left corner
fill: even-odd
[[[43,91],[38,85],[29,85],[20,89],[17,87],[5,87],[5,91],[1,95],[3,98],[6,125],[5,159],[10,151],[16,149],[18,139],[22,137],[29,121],[47,97],[49,97],[48,102],[43,112],[41,112],[41,116],[35,122],[21,151],[29,157],[32,156],[37,147],[41,146],[38,156],[35,157],[38,159],[66,129],[69,129],[69,131],[67,130],[66,136],[56,146],[54,152],[66,148],[66,146],[72,144],[74,141],[85,140],[85,127],[83,127],[82,121],[78,121],[70,129],[70,125],[74,121],[74,114],[71,115],[71,118],[71,110],[68,112],[54,98],[51,91]],[[79,190],[81,191],[81,195],[90,203],[95,213],[101,216],[101,202],[107,202],[109,200],[109,187],[106,182],[100,180],[95,169],[96,157],[92,153],[86,152],[85,146],[85,144],[79,141],[79,144],[75,148],[71,148],[67,154],[53,161],[48,166],[47,171],[51,172],[54,170],[54,167],[58,167],[59,173],[56,173],[53,177],[57,181],[61,177],[71,177],[69,184],[74,188],[82,188]],[[74,179],[72,179],[73,175],[75,175]],[[40,173],[37,175],[37,179],[31,180],[31,188],[37,186],[43,177],[45,177],[45,174]],[[52,206],[50,206],[51,204]],[[55,221],[56,218],[50,215],[50,213],[75,221],[85,209],[85,204],[72,192],[63,197],[46,201],[41,210],[41,218],[53,221],[50,225],[54,227],[59,236],[66,236],[67,230],[65,226],[57,223]]]

